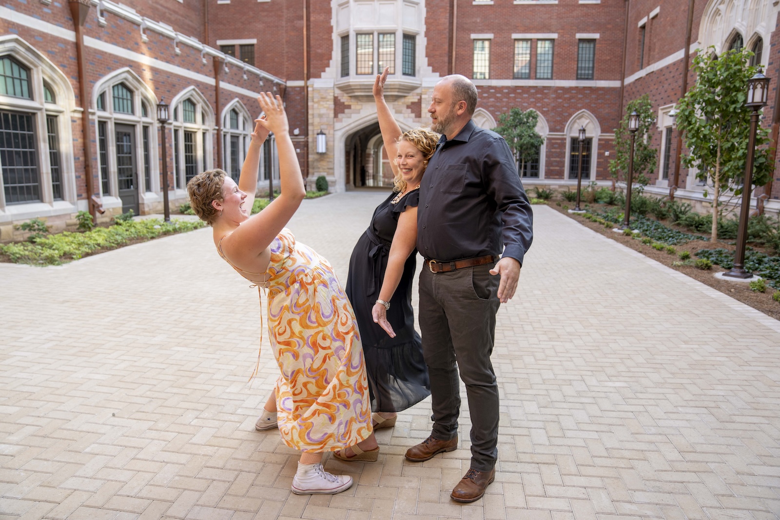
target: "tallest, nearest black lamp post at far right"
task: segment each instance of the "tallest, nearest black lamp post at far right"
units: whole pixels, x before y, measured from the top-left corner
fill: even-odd
[[[756,154],[756,131],[758,129],[758,111],[767,104],[769,78],[761,69],[747,81],[747,99],[745,106],[753,109],[750,114],[750,134],[747,138],[747,158],[745,161],[745,179],[742,187],[742,207],[739,208],[739,228],[736,232],[736,251],[734,265],[723,276],[729,278],[751,278],[753,274],[745,270],[745,244],[747,242],[747,219],[750,218],[750,188],[753,184],[753,157]]]

